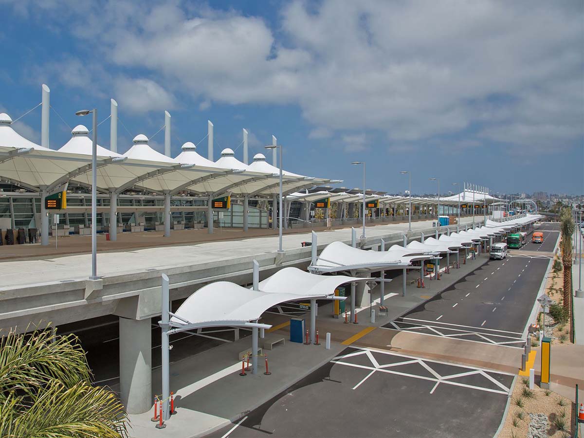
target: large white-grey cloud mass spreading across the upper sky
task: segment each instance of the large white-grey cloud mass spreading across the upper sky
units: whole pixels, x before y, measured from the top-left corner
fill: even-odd
[[[402,148],[475,129],[513,153],[540,153],[584,134],[582,2],[292,1],[278,29],[179,2],[88,4],[75,20],[67,1],[50,5],[43,13],[58,20],[62,5],[87,46],[86,30],[98,35],[101,59],[124,77],[116,98],[136,110],[183,95],[201,109],[299,105],[311,138],[378,130]],[[64,74],[75,83],[84,66]]]

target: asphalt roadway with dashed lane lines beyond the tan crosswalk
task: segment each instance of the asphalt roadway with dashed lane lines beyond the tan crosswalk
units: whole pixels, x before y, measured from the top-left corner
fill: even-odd
[[[553,251],[558,224],[544,224],[543,244],[527,244],[516,256],[488,263],[420,304],[385,328],[415,331],[433,336],[449,336],[477,342],[520,347],[527,319],[537,298],[549,258],[522,256],[541,245]]]

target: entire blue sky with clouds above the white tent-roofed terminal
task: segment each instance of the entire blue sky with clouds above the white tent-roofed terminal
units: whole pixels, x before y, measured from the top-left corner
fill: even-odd
[[[0,109],[51,88],[77,109],[119,103],[119,150],[172,114],[172,155],[215,126],[215,159],[274,134],[285,168],[415,193],[469,181],[500,192],[582,193],[582,2],[0,0]],[[51,148],[70,128],[51,112]],[[40,108],[15,128],[39,141]],[[99,142],[109,145],[109,122]],[[164,134],[152,138],[161,150]],[[199,152],[206,156],[206,141]],[[236,154],[241,159],[242,148]]]

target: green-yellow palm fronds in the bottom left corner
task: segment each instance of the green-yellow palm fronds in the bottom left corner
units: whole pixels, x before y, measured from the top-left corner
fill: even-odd
[[[76,336],[0,331],[0,436],[127,437],[123,405],[90,378]]]

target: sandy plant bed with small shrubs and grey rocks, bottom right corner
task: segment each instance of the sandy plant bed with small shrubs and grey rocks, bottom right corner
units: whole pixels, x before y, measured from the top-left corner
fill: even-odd
[[[499,437],[567,438],[572,423],[571,401],[537,385],[530,390],[529,378],[519,376]]]

